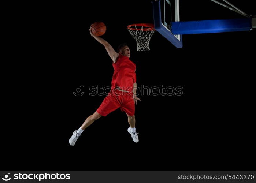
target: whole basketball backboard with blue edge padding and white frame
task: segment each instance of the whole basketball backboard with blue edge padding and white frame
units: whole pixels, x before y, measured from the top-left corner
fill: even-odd
[[[179,22],[179,0],[154,0],[153,16],[155,30],[177,48],[182,48],[182,35],[174,35],[171,22]]]

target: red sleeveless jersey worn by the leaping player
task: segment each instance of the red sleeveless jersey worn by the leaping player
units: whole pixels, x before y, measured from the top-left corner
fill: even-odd
[[[136,65],[127,56],[119,55],[113,63],[114,74],[111,88],[120,88],[132,92],[133,84],[136,82]]]

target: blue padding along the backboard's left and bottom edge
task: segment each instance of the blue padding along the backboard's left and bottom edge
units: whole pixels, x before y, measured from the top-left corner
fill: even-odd
[[[154,26],[160,34],[169,40],[177,48],[182,48],[182,35],[179,41],[169,30],[162,25],[160,1],[153,1]]]

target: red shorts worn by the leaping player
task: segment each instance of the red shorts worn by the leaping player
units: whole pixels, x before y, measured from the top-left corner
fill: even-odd
[[[133,94],[111,89],[108,96],[104,98],[100,107],[97,109],[97,113],[101,116],[107,116],[118,108],[126,112],[129,116],[133,116],[135,113]]]

